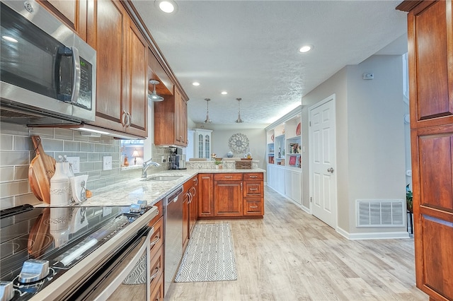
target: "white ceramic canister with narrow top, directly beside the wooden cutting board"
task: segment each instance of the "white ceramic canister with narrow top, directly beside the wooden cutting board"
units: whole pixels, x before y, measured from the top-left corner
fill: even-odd
[[[64,162],[55,163],[55,174],[50,179],[50,205],[69,205],[69,178],[64,172]]]

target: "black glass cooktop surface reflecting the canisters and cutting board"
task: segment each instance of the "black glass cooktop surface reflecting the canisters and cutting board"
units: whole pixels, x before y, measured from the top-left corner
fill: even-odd
[[[150,207],[18,206],[0,213],[0,295],[27,300]],[[27,295],[28,297],[23,297]],[[4,300],[0,296],[1,300]]]

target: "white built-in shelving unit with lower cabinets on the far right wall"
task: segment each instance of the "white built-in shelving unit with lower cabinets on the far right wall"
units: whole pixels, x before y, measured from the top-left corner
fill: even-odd
[[[268,187],[302,204],[302,106],[266,128]]]

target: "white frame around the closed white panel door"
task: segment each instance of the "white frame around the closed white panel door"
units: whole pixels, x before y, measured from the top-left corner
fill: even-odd
[[[333,104],[333,117],[334,117],[334,122],[333,122],[333,131],[334,131],[334,134],[333,134],[333,147],[335,148],[334,149],[334,155],[335,155],[335,166],[333,166],[333,169],[335,170],[335,172],[337,172],[337,160],[336,160],[336,157],[337,157],[337,139],[336,139],[336,134],[337,134],[337,121],[336,121],[336,94],[333,93],[332,95],[328,96],[327,98],[324,98],[323,100],[319,101],[319,102],[316,102],[314,105],[311,105],[311,107],[309,107],[308,109],[308,118],[309,118],[309,124],[311,122],[311,111],[316,109],[317,107],[320,107],[321,105],[325,105],[327,102],[330,102],[332,101],[332,104]],[[311,146],[313,145],[313,141],[312,141],[312,130],[311,130],[311,126],[309,125],[309,149],[311,148]],[[312,188],[312,184],[313,184],[313,167],[311,165],[311,162],[312,162],[312,159],[313,159],[313,152],[309,151],[309,198],[310,198],[310,202],[309,202],[309,213],[311,215],[313,215],[313,201],[312,200],[312,197],[313,197],[313,194],[314,194],[314,191],[313,191],[313,188]],[[338,172],[336,173],[336,178],[335,178],[335,184],[336,184],[336,191],[335,191],[335,198],[336,198],[336,203],[335,203],[335,221],[334,221],[334,227],[333,229],[337,230],[338,228]]]

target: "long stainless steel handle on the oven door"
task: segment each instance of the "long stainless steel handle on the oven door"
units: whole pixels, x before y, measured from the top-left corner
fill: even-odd
[[[110,273],[110,275],[103,280],[103,283],[107,285],[103,286],[101,293],[96,295],[93,300],[106,300],[113,292],[121,285],[122,281],[125,280],[127,275],[129,275],[132,268],[142,257],[143,252],[147,254],[147,262],[149,262],[149,240],[151,240],[151,235],[154,233],[154,227],[149,230],[146,237],[142,236],[139,244],[135,247],[130,254],[127,256],[127,259],[123,260],[122,263],[115,268],[115,270]],[[147,271],[147,290],[149,289],[149,271]],[[147,293],[149,296],[149,292]]]

